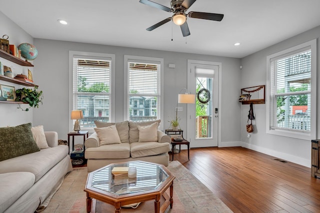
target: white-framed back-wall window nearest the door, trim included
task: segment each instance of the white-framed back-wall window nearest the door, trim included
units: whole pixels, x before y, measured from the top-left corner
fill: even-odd
[[[125,55],[124,63],[125,97],[127,97],[124,114],[127,115],[127,119],[130,121],[161,119],[163,59]],[[132,100],[133,106],[127,104]],[[133,111],[134,117],[131,116],[129,112],[137,107],[139,113]]]

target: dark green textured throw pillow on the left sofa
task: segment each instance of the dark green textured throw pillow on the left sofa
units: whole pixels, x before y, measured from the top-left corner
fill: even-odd
[[[40,151],[32,136],[31,123],[0,128],[0,150],[0,161]]]

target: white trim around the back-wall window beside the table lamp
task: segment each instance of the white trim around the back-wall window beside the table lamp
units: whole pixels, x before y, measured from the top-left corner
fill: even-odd
[[[110,122],[114,122],[115,118],[115,54],[107,54],[107,53],[98,53],[98,52],[84,52],[84,51],[73,51],[69,50],[69,108],[68,108],[68,117],[71,116],[72,111],[72,102],[73,102],[73,58],[74,57],[84,57],[84,58],[92,58],[92,59],[103,59],[111,61],[111,72],[110,72],[110,97],[111,97],[111,114]],[[73,121],[69,120],[69,131],[73,131]],[[90,133],[94,132],[93,128],[82,128],[81,130],[88,130]]]

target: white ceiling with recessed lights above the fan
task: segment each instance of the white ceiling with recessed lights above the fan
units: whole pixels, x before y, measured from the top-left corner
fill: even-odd
[[[170,7],[169,0],[153,1]],[[139,0],[0,0],[0,11],[34,38],[237,58],[319,26],[319,10],[320,0],[197,0],[187,12],[224,17],[188,18],[185,39],[172,22],[146,31],[172,14]]]

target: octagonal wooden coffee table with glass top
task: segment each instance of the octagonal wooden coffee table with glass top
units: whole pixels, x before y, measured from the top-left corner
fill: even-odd
[[[135,167],[136,178],[127,174],[113,176],[114,167]],[[173,205],[173,179],[175,177],[160,164],[144,161],[131,161],[110,164],[88,174],[84,191],[86,192],[86,210],[91,212],[92,198],[114,206],[115,213],[121,207],[144,201],[154,200],[154,212],[164,212]],[[165,191],[170,188],[170,195]],[[161,196],[164,202],[160,205]]]

